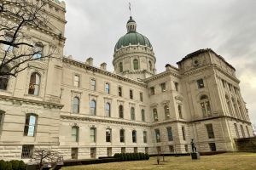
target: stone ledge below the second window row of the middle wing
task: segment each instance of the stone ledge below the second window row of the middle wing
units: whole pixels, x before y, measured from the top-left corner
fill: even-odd
[[[142,122],[142,123],[125,122],[123,120],[102,119],[102,118],[94,118],[94,117],[79,117],[79,116],[63,116],[63,115],[61,115],[61,119],[73,120],[73,121],[103,122],[103,123],[122,124],[122,125],[137,126],[137,127],[149,127],[149,124],[145,123],[145,122]]]

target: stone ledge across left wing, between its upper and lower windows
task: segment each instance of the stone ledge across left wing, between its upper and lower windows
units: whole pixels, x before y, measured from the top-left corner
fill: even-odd
[[[61,109],[64,106],[64,105],[52,103],[52,102],[38,101],[34,99],[23,99],[23,98],[17,98],[13,96],[5,96],[5,95],[0,95],[0,100],[11,101],[13,104],[16,104],[16,105],[22,105],[22,104],[41,105],[41,106],[44,106],[44,108]]]

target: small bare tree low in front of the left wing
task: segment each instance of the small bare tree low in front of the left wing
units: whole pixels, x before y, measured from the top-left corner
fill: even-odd
[[[33,151],[32,158],[30,162],[39,165],[39,169],[43,168],[45,165],[50,164],[55,166],[58,163],[62,163],[63,156],[61,153],[55,150],[49,149],[36,149]]]

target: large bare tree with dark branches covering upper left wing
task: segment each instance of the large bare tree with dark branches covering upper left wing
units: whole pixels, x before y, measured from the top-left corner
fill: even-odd
[[[48,3],[49,0],[0,0],[0,77],[16,77],[30,61],[49,59],[56,53],[51,45],[43,54],[43,44],[31,33],[49,31],[45,9]]]

